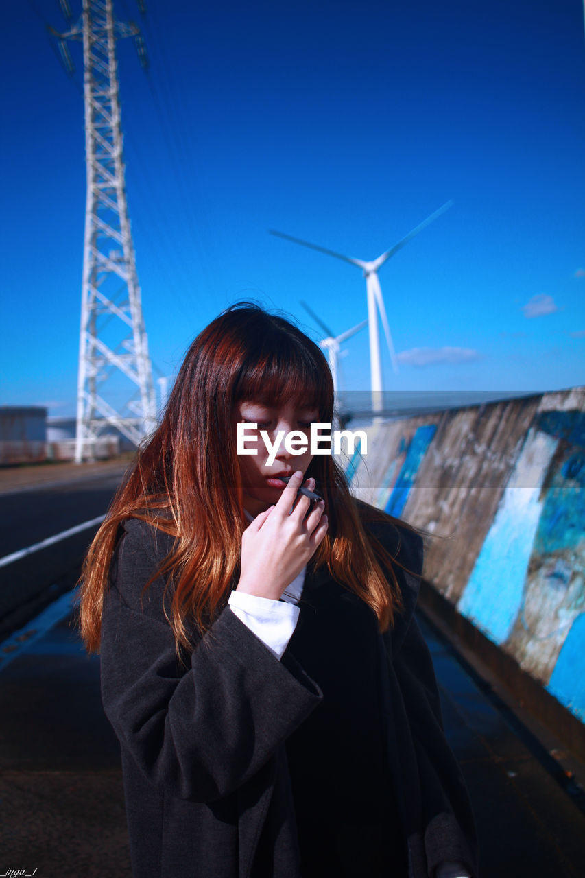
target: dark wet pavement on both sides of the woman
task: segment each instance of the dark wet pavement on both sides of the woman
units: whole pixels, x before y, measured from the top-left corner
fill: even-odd
[[[421,621],[476,810],[482,878],[582,878],[585,816]],[[70,613],[44,636],[37,626],[36,635],[6,645],[0,874],[129,876],[119,751],[101,709],[98,659],[86,657]]]

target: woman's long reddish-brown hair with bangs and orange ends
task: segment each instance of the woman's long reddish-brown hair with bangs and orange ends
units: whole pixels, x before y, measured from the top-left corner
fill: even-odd
[[[160,427],[139,451],[83,563],[81,630],[99,648],[102,607],[119,526],[149,522],[175,537],[160,571],[172,583],[169,622],[187,647],[188,622],[203,633],[237,582],[247,526],[233,428],[241,400],[288,400],[333,420],[334,392],[321,350],[289,320],[239,303],[213,320],[188,350]],[[390,558],[365,534],[358,507],[332,455],[307,469],[325,500],[329,530],[311,559],[374,610],[386,630],[401,605]],[[382,569],[383,568],[383,569]]]

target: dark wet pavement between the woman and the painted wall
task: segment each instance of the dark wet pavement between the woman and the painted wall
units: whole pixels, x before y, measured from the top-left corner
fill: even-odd
[[[421,619],[444,726],[473,801],[482,878],[583,878],[585,814],[455,652]],[[534,742],[538,750],[538,742]],[[543,761],[545,765],[543,765]],[[559,766],[553,766],[562,774]],[[582,777],[581,777],[582,780]]]

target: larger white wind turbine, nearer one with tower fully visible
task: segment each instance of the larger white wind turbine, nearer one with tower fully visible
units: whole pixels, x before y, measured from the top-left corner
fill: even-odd
[[[318,244],[312,244],[310,241],[303,241],[301,238],[293,238],[291,234],[285,234],[284,232],[277,232],[275,229],[269,229],[270,234],[276,234],[278,238],[285,238],[286,241],[293,241],[294,244],[302,244],[303,247],[311,248],[312,250],[317,250],[319,253],[325,253],[329,256],[335,256],[336,259],[342,259],[344,263],[350,263],[351,265],[357,265],[364,272],[365,277],[365,289],[367,293],[367,303],[368,303],[368,326],[370,333],[370,374],[372,381],[372,411],[380,412],[382,410],[382,367],[379,356],[379,329],[378,329],[378,313],[380,316],[380,320],[382,320],[382,327],[384,328],[384,335],[386,335],[386,344],[388,346],[388,351],[390,353],[390,359],[392,360],[392,367],[394,369],[394,373],[398,371],[398,363],[396,362],[396,355],[394,354],[394,344],[392,343],[392,335],[390,335],[390,327],[388,326],[388,318],[386,316],[386,308],[384,306],[384,299],[382,299],[382,291],[379,285],[378,279],[378,270],[382,267],[384,263],[391,256],[394,256],[408,241],[415,237],[416,234],[423,231],[423,228],[428,226],[434,219],[437,219],[442,213],[448,210],[452,201],[447,201],[442,207],[439,207],[437,211],[431,213],[427,219],[424,219],[422,223],[413,228],[411,232],[408,232],[401,241],[398,241],[397,244],[394,244],[394,247],[391,247],[389,250],[386,250],[386,253],[382,253],[379,255],[378,259],[374,259],[372,262],[365,262],[362,259],[353,259],[351,256],[345,256],[342,253],[336,253],[335,250],[329,250],[326,247],[321,247]]]

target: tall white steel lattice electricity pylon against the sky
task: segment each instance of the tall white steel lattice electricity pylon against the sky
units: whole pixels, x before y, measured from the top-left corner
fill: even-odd
[[[61,10],[70,19],[66,0],[61,0]],[[114,19],[112,0],[83,0],[79,21],[55,36],[69,73],[74,68],[67,40],[83,40],[87,198],[75,457],[81,463],[95,457],[97,440],[109,425],[135,445],[156,425],[155,389],[126,203],[116,40],[134,37],[144,67],[146,54],[136,25]],[[109,385],[104,392],[106,381]],[[128,381],[133,399],[126,402]]]

